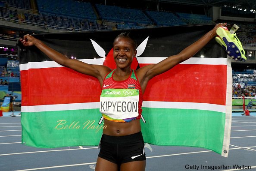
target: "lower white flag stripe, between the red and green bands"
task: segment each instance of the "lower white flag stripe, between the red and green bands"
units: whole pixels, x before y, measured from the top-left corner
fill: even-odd
[[[175,109],[185,108],[185,109],[197,109],[197,110],[217,111],[217,112],[225,113],[225,105],[215,105],[215,104],[209,104],[209,103],[144,101],[142,107],[175,108]],[[66,111],[66,110],[97,109],[97,108],[100,108],[100,102],[22,106],[21,111],[22,112],[41,112],[41,111]]]

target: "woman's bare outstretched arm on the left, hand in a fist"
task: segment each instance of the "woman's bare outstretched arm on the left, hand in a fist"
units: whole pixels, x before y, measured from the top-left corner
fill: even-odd
[[[77,72],[81,72],[83,74],[91,75],[93,77],[98,78],[101,85],[106,73],[110,71],[110,69],[106,66],[91,65],[91,64],[81,62],[79,60],[69,59],[65,55],[48,47],[42,41],[34,38],[31,35],[25,35],[24,39],[20,39],[20,41],[24,46],[35,45],[44,54],[46,54],[48,57],[50,57],[52,60],[54,60],[56,63],[59,63],[62,66],[66,66],[68,68],[74,69]]]

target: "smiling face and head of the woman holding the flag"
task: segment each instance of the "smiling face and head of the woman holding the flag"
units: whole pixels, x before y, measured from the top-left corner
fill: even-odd
[[[125,37],[119,37],[114,41],[113,45],[113,57],[116,66],[121,69],[131,67],[133,57],[137,54],[137,50],[134,49],[132,40]]]

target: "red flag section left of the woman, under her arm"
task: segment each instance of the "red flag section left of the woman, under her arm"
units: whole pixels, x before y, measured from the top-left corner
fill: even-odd
[[[21,88],[28,106],[99,102],[101,93],[96,78],[66,67],[23,70]]]

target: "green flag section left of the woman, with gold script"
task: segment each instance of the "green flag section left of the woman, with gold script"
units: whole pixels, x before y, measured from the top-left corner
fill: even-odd
[[[99,109],[22,112],[22,143],[42,148],[97,145],[100,117]]]

